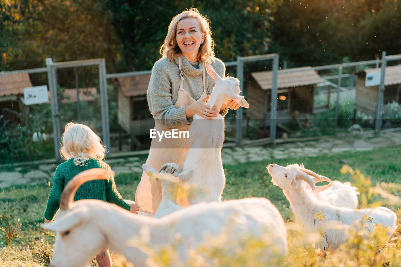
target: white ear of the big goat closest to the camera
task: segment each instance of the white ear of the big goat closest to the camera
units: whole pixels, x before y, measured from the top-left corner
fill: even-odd
[[[52,231],[67,231],[68,229],[71,229],[79,223],[85,221],[85,213],[87,212],[89,212],[89,210],[73,210],[61,216],[60,218],[57,218],[54,223],[46,223],[42,224],[41,226]]]

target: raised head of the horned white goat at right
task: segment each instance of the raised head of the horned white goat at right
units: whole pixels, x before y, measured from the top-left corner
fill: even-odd
[[[328,186],[315,186],[315,181],[322,182],[322,177],[324,176],[320,176],[311,170],[301,168],[298,164],[288,165],[287,167],[270,164],[267,166],[267,171],[271,175],[273,184],[284,190],[300,188],[304,182],[306,182],[314,192],[326,190],[332,186],[331,183]],[[301,180],[304,182],[301,182]]]

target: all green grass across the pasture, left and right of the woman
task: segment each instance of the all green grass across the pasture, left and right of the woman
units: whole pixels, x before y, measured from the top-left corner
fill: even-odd
[[[372,186],[375,186],[381,182],[398,184],[401,177],[400,162],[401,146],[395,146],[394,148],[345,152],[331,156],[263,160],[224,166],[226,186],[223,200],[251,196],[265,197],[279,209],[284,220],[292,220],[292,212],[282,190],[271,183],[271,177],[266,170],[268,164],[276,163],[286,166],[287,164],[304,163],[306,168],[332,180],[351,182],[349,174],[340,172],[346,163],[353,169],[359,169],[365,176],[370,176]],[[117,190],[123,198],[134,200],[140,176],[140,173],[129,173],[119,174],[115,177]],[[32,257],[32,253],[40,254],[41,250],[38,250],[38,247],[40,247],[41,240],[50,251],[54,245],[55,237],[40,227],[44,220],[43,212],[49,192],[50,186],[47,183],[0,189],[0,227],[3,229],[0,230],[0,266],[43,266]],[[393,194],[401,196],[399,191],[395,191]],[[390,208],[397,210],[399,206]]]

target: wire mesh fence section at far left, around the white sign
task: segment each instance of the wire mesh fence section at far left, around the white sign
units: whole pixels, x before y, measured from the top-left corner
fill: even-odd
[[[0,98],[1,162],[53,158],[50,101],[25,105],[23,97],[24,87],[48,85],[46,69],[14,71],[0,80],[2,89],[6,88]]]

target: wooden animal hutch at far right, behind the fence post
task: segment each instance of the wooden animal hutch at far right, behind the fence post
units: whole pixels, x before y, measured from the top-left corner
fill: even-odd
[[[357,73],[354,111],[358,110],[367,114],[376,114],[379,85],[366,87],[365,80],[367,75],[369,76],[371,73],[377,72],[381,72],[381,69],[365,69]],[[392,101],[400,103],[401,65],[386,67],[384,85],[383,103],[385,104]]]

